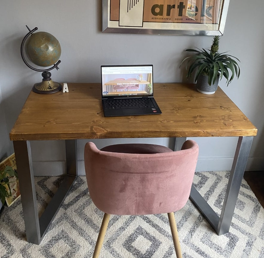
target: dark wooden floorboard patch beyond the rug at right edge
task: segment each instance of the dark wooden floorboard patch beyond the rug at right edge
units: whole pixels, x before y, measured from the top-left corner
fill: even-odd
[[[244,179],[264,208],[264,171],[246,171]]]

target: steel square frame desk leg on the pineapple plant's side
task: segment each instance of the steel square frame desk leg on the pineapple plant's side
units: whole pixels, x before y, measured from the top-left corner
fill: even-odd
[[[207,204],[195,187],[192,186],[190,199],[208,220],[218,235],[223,235],[229,232],[252,141],[253,136],[241,136],[238,138],[238,144],[220,218],[210,205]]]

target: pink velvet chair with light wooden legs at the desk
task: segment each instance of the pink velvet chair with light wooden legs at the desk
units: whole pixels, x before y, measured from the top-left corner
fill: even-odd
[[[177,258],[182,257],[174,212],[187,202],[198,158],[198,144],[180,151],[154,144],[117,144],[99,150],[88,142],[84,164],[94,204],[105,214],[93,258],[100,254],[110,215],[168,213]]]

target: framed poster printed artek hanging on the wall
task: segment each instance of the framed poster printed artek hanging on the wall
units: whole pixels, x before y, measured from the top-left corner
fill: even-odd
[[[103,32],[223,35],[229,0],[102,0]]]

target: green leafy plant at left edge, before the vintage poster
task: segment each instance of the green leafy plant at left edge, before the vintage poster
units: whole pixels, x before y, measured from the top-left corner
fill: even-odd
[[[4,170],[0,171],[0,201],[2,205],[5,204],[5,197],[11,196],[11,188],[9,185],[9,178],[10,177],[18,177],[17,171],[14,170],[12,167],[6,166]],[[7,188],[6,188],[7,186]],[[1,206],[1,204],[0,204]],[[1,208],[1,207],[0,207]]]

